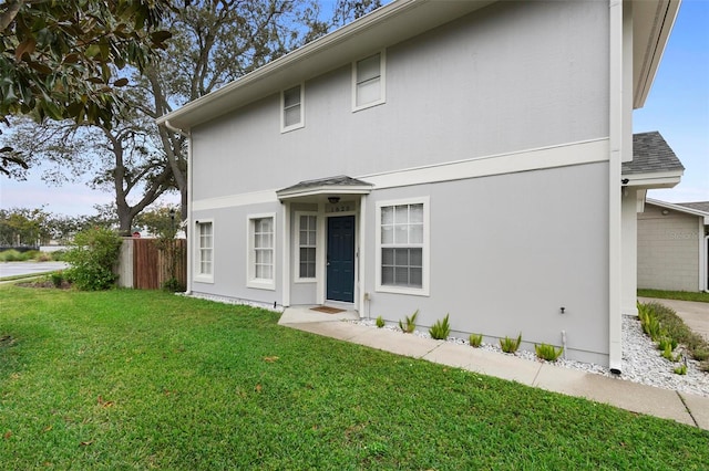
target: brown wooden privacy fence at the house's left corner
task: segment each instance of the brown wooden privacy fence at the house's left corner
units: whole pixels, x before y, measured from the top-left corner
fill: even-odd
[[[165,283],[187,284],[185,239],[123,239],[117,268],[119,285],[160,290]],[[174,281],[173,281],[174,280]]]

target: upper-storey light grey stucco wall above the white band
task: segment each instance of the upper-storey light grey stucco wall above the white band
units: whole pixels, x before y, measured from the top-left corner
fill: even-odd
[[[305,82],[301,129],[279,93],[199,126],[193,197],[607,137],[607,10],[501,2],[387,48],[382,105],[352,113],[348,62]]]

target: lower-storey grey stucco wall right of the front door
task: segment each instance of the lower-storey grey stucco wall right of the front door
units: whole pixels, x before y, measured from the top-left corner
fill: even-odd
[[[561,345],[565,331],[569,357],[607,364],[607,171],[600,163],[372,192],[368,213],[379,200],[430,197],[431,285],[430,296],[377,292],[370,251],[368,314],[395,323],[419,310],[425,329],[450,313],[459,333],[522,333],[527,348]]]

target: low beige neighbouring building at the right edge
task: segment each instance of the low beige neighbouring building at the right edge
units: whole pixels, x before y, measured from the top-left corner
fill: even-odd
[[[709,291],[709,201],[648,199],[638,213],[638,286]]]

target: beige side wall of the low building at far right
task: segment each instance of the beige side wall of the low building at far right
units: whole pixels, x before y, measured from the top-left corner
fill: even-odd
[[[638,214],[638,287],[699,291],[699,217],[646,203]]]

